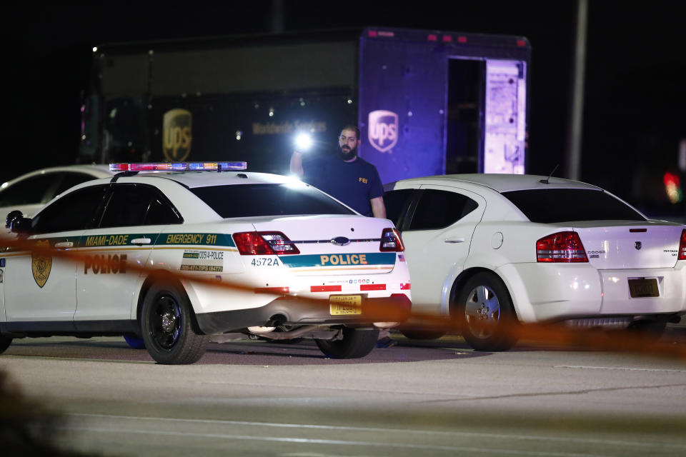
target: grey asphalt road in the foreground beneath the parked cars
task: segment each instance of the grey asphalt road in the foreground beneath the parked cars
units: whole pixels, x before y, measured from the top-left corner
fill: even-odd
[[[347,361],[307,341],[213,343],[192,366],[121,338],[34,338],[0,370],[88,455],[686,456],[684,359],[395,337]]]

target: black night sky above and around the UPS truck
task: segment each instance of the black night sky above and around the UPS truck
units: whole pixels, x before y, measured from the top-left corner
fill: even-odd
[[[38,7],[25,2],[3,12],[3,69],[9,76],[2,123],[9,147],[3,156],[6,163],[14,160],[16,169],[4,166],[0,182],[41,162],[74,162],[79,91],[86,89],[92,46],[268,32],[272,27],[272,1],[94,3]],[[666,0],[589,3],[581,179],[663,211],[662,174],[677,171],[678,143],[686,138],[683,17],[673,11],[677,2]],[[283,28],[395,26],[527,36],[533,46],[528,171],[548,174],[556,164],[561,170],[576,2],[427,0],[401,5],[284,0]]]

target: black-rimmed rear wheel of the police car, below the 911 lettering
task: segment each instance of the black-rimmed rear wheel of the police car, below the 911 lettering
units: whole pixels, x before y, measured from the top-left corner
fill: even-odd
[[[146,293],[141,333],[150,356],[166,365],[199,361],[209,343],[209,336],[194,329],[186,292],[169,281],[154,283]]]

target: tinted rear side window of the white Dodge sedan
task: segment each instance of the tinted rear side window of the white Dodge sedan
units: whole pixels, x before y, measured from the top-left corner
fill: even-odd
[[[426,189],[414,210],[409,230],[443,229],[477,209],[476,201],[457,192]]]

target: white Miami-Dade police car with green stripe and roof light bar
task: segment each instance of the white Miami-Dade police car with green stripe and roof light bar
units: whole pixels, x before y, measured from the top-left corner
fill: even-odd
[[[194,363],[210,336],[242,332],[356,358],[409,316],[385,219],[244,162],[112,168],[9,221],[0,351],[24,336],[124,335],[159,363]]]

